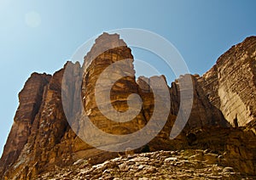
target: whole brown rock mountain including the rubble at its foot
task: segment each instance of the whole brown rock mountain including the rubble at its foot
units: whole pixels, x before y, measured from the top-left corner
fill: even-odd
[[[184,176],[189,178],[200,176],[192,174],[191,168],[201,162],[198,172],[205,172],[204,177],[236,178],[255,175],[255,49],[256,37],[248,37],[224,53],[205,75],[184,75],[168,87],[165,76],[139,77],[136,81],[131,49],[119,39],[119,35],[103,33],[84,57],[84,65],[67,62],[53,76],[33,73],[28,79],[19,94],[20,106],[0,159],[0,178],[45,179],[48,176],[56,178],[66,175],[68,178],[97,178],[108,177],[109,174],[116,177],[137,174],[140,177],[140,172],[143,171],[148,171],[148,177],[150,174],[175,177],[180,176],[179,171],[182,168],[185,168]],[[114,65],[114,71],[108,73],[111,65]],[[68,68],[70,71],[66,75],[65,70]],[[107,73],[104,74],[105,71]],[[193,82],[193,106],[183,131],[177,138],[170,139],[169,135],[180,107],[179,82],[183,78],[191,78]],[[102,82],[100,87],[97,87],[97,81]],[[167,87],[170,102],[161,98],[154,101],[155,94],[150,87],[154,82],[159,82],[156,92],[164,93],[161,92],[162,87]],[[110,89],[109,84],[113,84]],[[141,97],[141,109],[136,106],[139,104],[137,96],[130,96],[131,94]],[[82,99],[82,106],[73,104],[79,102],[79,99]],[[110,106],[106,104],[108,100]],[[63,104],[70,106],[65,109]],[[127,135],[148,125],[156,104],[160,104],[160,114],[164,114],[166,107],[170,107],[168,119],[162,130],[143,147],[129,150],[127,146],[123,150],[126,152],[110,153],[83,141],[83,133],[94,134],[93,129],[83,132],[87,126],[84,115],[102,132]],[[102,110],[104,107],[108,108]],[[111,110],[128,112],[125,117],[117,114],[121,117],[117,118],[119,121],[112,121],[108,116]],[[130,121],[125,121],[126,119]],[[161,121],[161,116],[157,121]],[[94,143],[117,145],[111,141],[103,142],[103,139],[97,139]],[[173,152],[142,154],[144,159],[148,158],[147,162],[140,160],[140,155],[131,155],[130,159],[138,160],[134,161],[136,166],[130,163],[129,157],[122,156],[116,160],[117,166],[105,168],[105,165],[113,164],[114,160],[110,159],[125,153],[174,149],[211,149],[212,154],[202,153],[202,150],[197,150],[197,153],[191,150],[195,157],[184,157],[184,151],[175,152],[176,156]],[[160,157],[162,154],[163,157]],[[151,166],[149,159],[156,165]],[[169,161],[166,159],[170,162],[174,160],[176,167],[174,164],[167,166]],[[104,160],[110,161],[93,167]],[[88,163],[84,165],[84,161]],[[127,163],[130,164],[125,166]],[[229,168],[224,168],[225,166]],[[124,175],[123,170],[126,171],[127,168],[135,170],[131,176]],[[53,170],[55,172],[50,172]],[[172,174],[172,170],[177,170],[177,173]],[[92,171],[96,171],[95,174]]]

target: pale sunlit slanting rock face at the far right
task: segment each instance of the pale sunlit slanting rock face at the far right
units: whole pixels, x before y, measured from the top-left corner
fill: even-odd
[[[233,127],[256,118],[256,37],[247,37],[219,57],[201,79],[210,102]]]

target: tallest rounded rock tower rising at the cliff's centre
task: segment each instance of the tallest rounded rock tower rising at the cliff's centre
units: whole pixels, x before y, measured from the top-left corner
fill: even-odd
[[[111,65],[116,62],[119,62],[119,64],[115,64],[111,68]],[[112,105],[113,110],[119,112],[125,112],[129,109],[127,104],[128,96],[131,93],[138,93],[135,70],[132,63],[131,49],[127,48],[125,42],[120,40],[117,34],[102,34],[101,37],[96,39],[96,44],[91,48],[90,53],[84,57],[84,65],[89,64],[89,67],[84,72],[82,83],[84,110],[86,115],[90,117],[90,121],[104,132],[128,134],[136,132],[146,124],[142,113],[139,113],[133,119],[129,118],[129,116],[133,116],[133,111],[131,111],[131,114],[127,114],[127,118],[130,121],[120,123],[111,121],[111,117],[106,118],[106,115],[103,115],[102,110],[98,108],[99,105],[102,105],[102,108],[106,109],[104,112],[107,115],[113,114],[110,112]],[[107,68],[111,68],[109,73],[103,74]],[[122,76],[124,77],[119,79]],[[100,87],[96,87],[97,81],[100,81]],[[108,88],[109,84],[113,84],[113,86]],[[97,92],[96,88],[98,89]],[[109,93],[110,96],[108,98]],[[98,99],[97,102],[96,98]],[[108,108],[105,107],[107,104],[104,104],[107,101],[111,105]],[[120,116],[120,118],[122,117]]]

